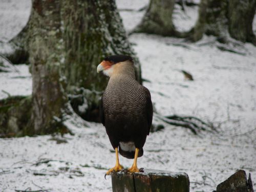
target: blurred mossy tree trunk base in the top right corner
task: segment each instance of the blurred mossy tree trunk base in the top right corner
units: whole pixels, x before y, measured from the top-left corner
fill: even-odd
[[[191,39],[198,41],[206,34],[214,35],[219,41],[226,42],[230,34],[234,39],[256,45],[252,31],[255,7],[255,0],[201,0],[198,20]]]

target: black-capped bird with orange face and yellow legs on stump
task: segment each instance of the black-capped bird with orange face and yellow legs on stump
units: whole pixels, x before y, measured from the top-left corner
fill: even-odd
[[[150,91],[136,80],[134,60],[129,55],[105,57],[97,72],[109,77],[100,100],[100,120],[116,153],[116,164],[105,176],[123,169],[119,154],[134,159],[128,172],[139,172],[137,158],[143,155],[153,119]]]

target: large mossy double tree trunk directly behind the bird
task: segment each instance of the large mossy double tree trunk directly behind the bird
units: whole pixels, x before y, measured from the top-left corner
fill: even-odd
[[[0,133],[3,135],[8,135],[8,130],[20,131],[24,127],[30,131],[19,136],[65,132],[62,122],[67,95],[77,112],[80,112],[79,106],[87,104],[86,111],[80,115],[98,118],[99,98],[107,81],[99,77],[96,67],[105,56],[131,55],[135,58],[137,80],[141,82],[140,64],[127,41],[114,0],[34,0],[24,31],[14,41],[25,43],[21,46],[30,56],[33,92],[32,99],[28,100],[32,109],[27,110],[32,115],[23,124],[17,123],[22,119],[6,123],[12,119],[12,114],[3,117],[8,118],[3,121],[0,116],[0,124],[4,125]],[[77,103],[74,98],[81,101]],[[3,108],[7,109],[7,105]]]

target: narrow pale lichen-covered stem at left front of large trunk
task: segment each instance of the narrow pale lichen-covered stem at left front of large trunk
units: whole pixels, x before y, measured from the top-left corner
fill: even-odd
[[[36,134],[55,132],[67,97],[61,84],[64,46],[60,30],[60,1],[34,0],[29,22],[32,65],[32,123]]]

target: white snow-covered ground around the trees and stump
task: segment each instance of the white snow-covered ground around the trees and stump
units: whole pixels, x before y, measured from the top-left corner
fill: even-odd
[[[29,2],[0,2],[0,41],[9,40],[26,24]],[[123,9],[139,10],[147,3],[117,1],[127,31],[140,22],[144,11]],[[174,23],[188,30],[196,14],[196,8],[187,8],[185,16],[177,9]],[[194,115],[221,125],[218,134],[196,136],[166,124],[164,130],[148,136],[138,166],[186,172],[190,191],[212,191],[236,170],[244,169],[251,173],[256,189],[256,48],[241,45],[237,49],[244,55],[239,55],[220,51],[214,38],[206,36],[196,44],[146,34],[129,38],[141,61],[142,76],[148,80],[144,86],[150,89],[159,114]],[[19,72],[0,73],[0,98],[8,96],[5,92],[31,93],[28,66],[16,67]],[[184,80],[179,70],[188,71],[195,80]],[[65,140],[60,144],[52,136],[0,139],[0,191],[28,187],[112,191],[111,178],[105,180],[104,174],[114,166],[115,154],[104,127],[73,119],[67,123],[76,134],[54,137]],[[132,160],[123,157],[120,162],[125,167],[132,165]]]

